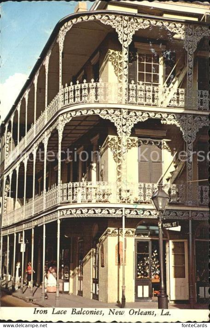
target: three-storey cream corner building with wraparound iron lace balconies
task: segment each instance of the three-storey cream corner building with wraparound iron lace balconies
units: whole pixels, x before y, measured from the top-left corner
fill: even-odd
[[[163,230],[169,301],[207,300],[208,17],[208,3],[96,1],[56,25],[1,126],[7,284],[19,261],[23,291],[30,261],[44,296],[53,264],[57,301],[100,307],[121,300],[124,267],[126,301],[155,299],[162,182],[181,227]]]

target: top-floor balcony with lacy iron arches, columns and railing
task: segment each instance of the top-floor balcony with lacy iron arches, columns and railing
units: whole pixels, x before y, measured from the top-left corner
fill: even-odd
[[[63,19],[5,119],[5,168],[62,111],[109,105],[206,114],[208,27],[192,26],[195,50],[188,24],[108,11]]]

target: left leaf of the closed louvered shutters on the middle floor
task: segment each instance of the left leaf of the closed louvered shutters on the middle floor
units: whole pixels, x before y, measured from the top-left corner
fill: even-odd
[[[139,182],[149,183],[149,145],[141,145],[138,149],[139,156]]]

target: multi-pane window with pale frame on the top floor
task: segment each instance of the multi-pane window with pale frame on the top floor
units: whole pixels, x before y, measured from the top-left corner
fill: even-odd
[[[138,53],[138,82],[159,84],[159,54]]]

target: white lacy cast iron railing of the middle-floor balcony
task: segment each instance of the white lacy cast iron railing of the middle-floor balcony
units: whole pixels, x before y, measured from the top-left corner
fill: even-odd
[[[171,204],[186,203],[186,185],[165,184],[164,190],[168,193]],[[119,182],[69,182],[60,186],[53,186],[48,192],[29,199],[22,206],[3,215],[3,226],[11,225],[27,219],[33,215],[51,209],[60,204],[151,204],[151,195],[157,189],[152,183],[127,183],[126,187]],[[209,187],[196,186],[193,204],[208,205]]]

